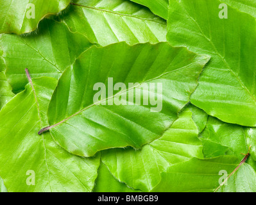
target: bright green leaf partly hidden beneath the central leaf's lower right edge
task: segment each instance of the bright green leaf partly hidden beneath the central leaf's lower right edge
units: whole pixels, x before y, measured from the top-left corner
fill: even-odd
[[[141,149],[108,149],[102,153],[103,162],[117,179],[144,192],[159,183],[167,167],[193,157],[203,159],[203,146],[189,108],[164,135]]]

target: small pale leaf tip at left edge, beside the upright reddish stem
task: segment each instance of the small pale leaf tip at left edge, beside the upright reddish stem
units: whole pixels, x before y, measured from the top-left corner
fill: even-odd
[[[0,72],[0,110],[13,96],[12,87],[9,85],[4,71],[2,71]]]

